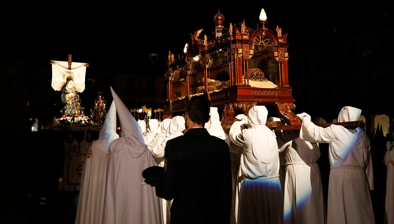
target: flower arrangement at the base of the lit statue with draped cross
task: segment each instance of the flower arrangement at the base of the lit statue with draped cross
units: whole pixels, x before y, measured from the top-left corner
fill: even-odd
[[[102,124],[95,122],[88,116],[77,116],[77,117],[66,117],[63,115],[61,118],[56,118],[54,122],[53,129],[71,129],[74,131],[81,130],[95,130],[100,131]]]

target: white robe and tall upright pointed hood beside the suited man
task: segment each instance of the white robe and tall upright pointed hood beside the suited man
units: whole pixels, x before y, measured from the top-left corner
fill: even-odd
[[[142,176],[142,171],[157,164],[137,121],[112,87],[111,92],[121,132],[109,145],[103,224],[163,224],[161,199]]]

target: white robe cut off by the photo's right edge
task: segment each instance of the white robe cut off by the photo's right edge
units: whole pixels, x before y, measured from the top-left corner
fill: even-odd
[[[394,142],[392,143],[394,144]],[[383,163],[387,165],[386,179],[386,198],[385,198],[385,217],[383,222],[386,224],[394,223],[394,150],[386,151]]]

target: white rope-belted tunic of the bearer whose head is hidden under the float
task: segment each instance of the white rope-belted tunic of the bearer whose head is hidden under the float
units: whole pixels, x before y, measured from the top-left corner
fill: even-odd
[[[289,139],[293,139],[287,141]],[[290,130],[277,138],[286,156],[284,183],[284,223],[325,224],[327,215],[317,143],[299,138],[298,130]],[[287,141],[287,142],[286,142]]]

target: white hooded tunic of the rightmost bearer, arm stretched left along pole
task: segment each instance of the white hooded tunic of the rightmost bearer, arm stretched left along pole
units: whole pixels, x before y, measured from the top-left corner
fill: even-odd
[[[350,111],[357,108],[346,108]],[[342,109],[344,110],[344,109]],[[361,111],[360,111],[361,113]],[[341,113],[338,118],[343,116]],[[356,121],[338,119],[338,122]],[[303,119],[300,138],[316,143],[329,143],[329,176],[327,223],[375,223],[369,191],[374,189],[370,140],[361,129],[340,125],[318,127]],[[368,178],[367,178],[368,177]]]

